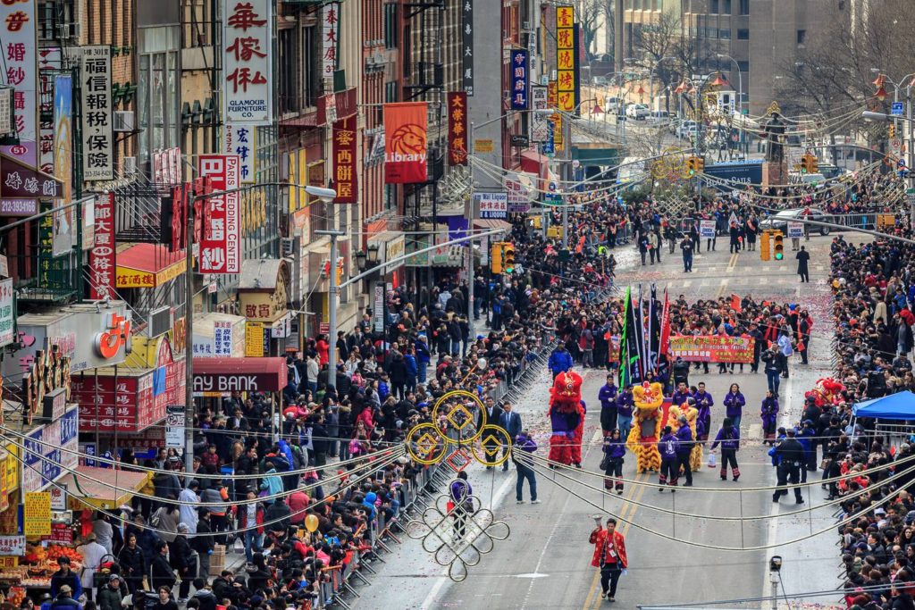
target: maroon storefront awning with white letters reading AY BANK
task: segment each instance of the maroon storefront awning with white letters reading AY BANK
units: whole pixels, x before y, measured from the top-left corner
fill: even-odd
[[[285,358],[195,358],[194,391],[282,391]]]

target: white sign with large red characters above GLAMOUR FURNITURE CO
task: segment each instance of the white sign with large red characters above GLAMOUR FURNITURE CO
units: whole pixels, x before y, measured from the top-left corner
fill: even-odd
[[[264,124],[273,121],[271,70],[273,10],[270,0],[222,0],[222,95],[225,123]]]

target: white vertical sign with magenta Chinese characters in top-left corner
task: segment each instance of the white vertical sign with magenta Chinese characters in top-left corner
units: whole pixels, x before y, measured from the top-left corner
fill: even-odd
[[[3,41],[5,84],[15,89],[16,134],[21,146],[5,149],[28,166],[38,163],[38,55],[36,53],[37,0],[4,0],[0,2],[0,40]]]

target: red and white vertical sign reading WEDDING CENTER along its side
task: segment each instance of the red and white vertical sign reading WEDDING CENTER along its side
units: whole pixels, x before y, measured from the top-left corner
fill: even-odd
[[[210,178],[214,192],[241,186],[238,155],[199,155],[199,177]],[[236,193],[203,199],[199,273],[241,273],[240,197]]]

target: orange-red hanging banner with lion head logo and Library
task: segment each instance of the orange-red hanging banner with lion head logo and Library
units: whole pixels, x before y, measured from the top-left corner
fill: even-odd
[[[384,104],[384,182],[425,182],[425,134],[425,102]]]

